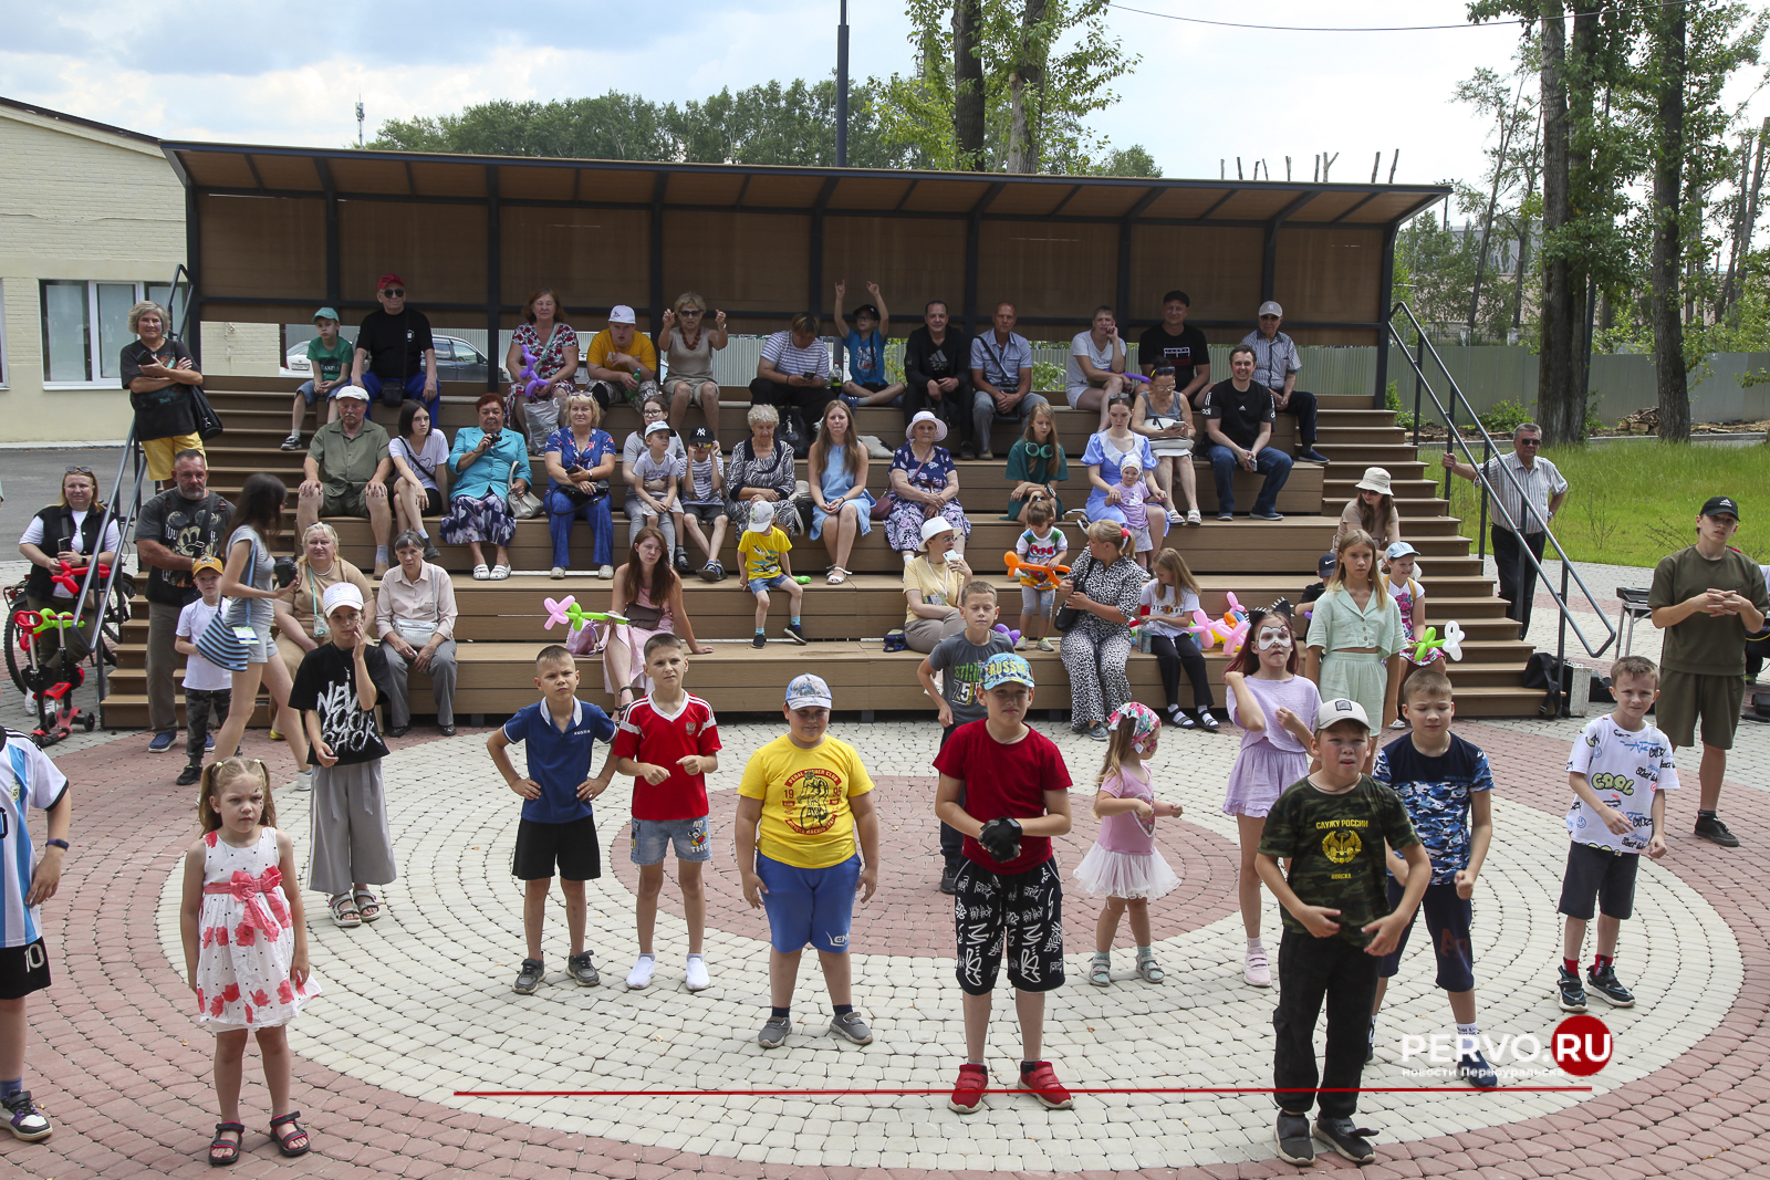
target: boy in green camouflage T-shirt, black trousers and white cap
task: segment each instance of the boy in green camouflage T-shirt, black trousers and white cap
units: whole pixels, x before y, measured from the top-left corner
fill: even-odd
[[[1317,1139],[1358,1164],[1377,1157],[1352,1123],[1365,1072],[1365,1030],[1381,959],[1395,950],[1432,877],[1432,862],[1400,796],[1363,773],[1368,750],[1365,709],[1356,701],[1322,702],[1315,715],[1322,768],[1278,798],[1255,856],[1260,881],[1285,908],[1273,1084],[1278,1155],[1290,1164],[1315,1161],[1308,1111],[1317,1100]],[[1407,888],[1393,911],[1384,842],[1407,860]],[[1280,858],[1290,860],[1289,879]],[[1328,1053],[1317,1090],[1315,1021],[1324,1003]]]

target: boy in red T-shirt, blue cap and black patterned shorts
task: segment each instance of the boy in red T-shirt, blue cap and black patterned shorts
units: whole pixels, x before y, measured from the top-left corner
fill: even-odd
[[[1025,1046],[1020,1090],[1051,1109],[1074,1104],[1051,1063],[1039,1060],[1044,992],[1064,985],[1064,890],[1051,837],[1069,831],[1069,768],[1057,745],[1025,724],[1032,688],[1023,658],[991,656],[982,672],[989,715],[959,725],[935,757],[935,816],[965,833],[952,911],[965,991],[965,1065],[947,1099],[959,1115],[979,1109],[989,1086],[984,1038],[1004,950]]]

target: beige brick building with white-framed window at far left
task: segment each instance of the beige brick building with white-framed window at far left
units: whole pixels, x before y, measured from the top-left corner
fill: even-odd
[[[0,159],[0,442],[120,441],[129,306],[168,301],[184,186],[154,136],[4,97]],[[209,375],[276,357],[274,324],[204,326]]]

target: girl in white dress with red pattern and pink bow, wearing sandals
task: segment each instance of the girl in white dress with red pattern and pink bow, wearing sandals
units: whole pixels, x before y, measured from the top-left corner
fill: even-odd
[[[264,762],[230,757],[204,768],[196,803],[204,835],[184,856],[184,969],[196,1021],[216,1035],[221,1122],[211,1164],[239,1159],[239,1083],[246,1037],[258,1033],[271,1092],[271,1138],[283,1155],[312,1146],[301,1111],[289,1109],[289,1035],[283,1026],[319,994],[308,969],[308,925],[296,881],[296,851],[278,831]]]

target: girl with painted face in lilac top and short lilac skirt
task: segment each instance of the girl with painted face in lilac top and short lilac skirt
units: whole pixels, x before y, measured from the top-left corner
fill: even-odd
[[[1322,704],[1320,692],[1301,670],[1290,617],[1271,607],[1251,612],[1241,653],[1223,674],[1228,720],[1241,725],[1241,752],[1228,771],[1223,814],[1235,817],[1241,837],[1241,923],[1248,932],[1243,978],[1255,987],[1273,985],[1273,964],[1260,941],[1260,876],[1253,870],[1253,853],[1273,803],[1310,773],[1315,752],[1310,724]]]

